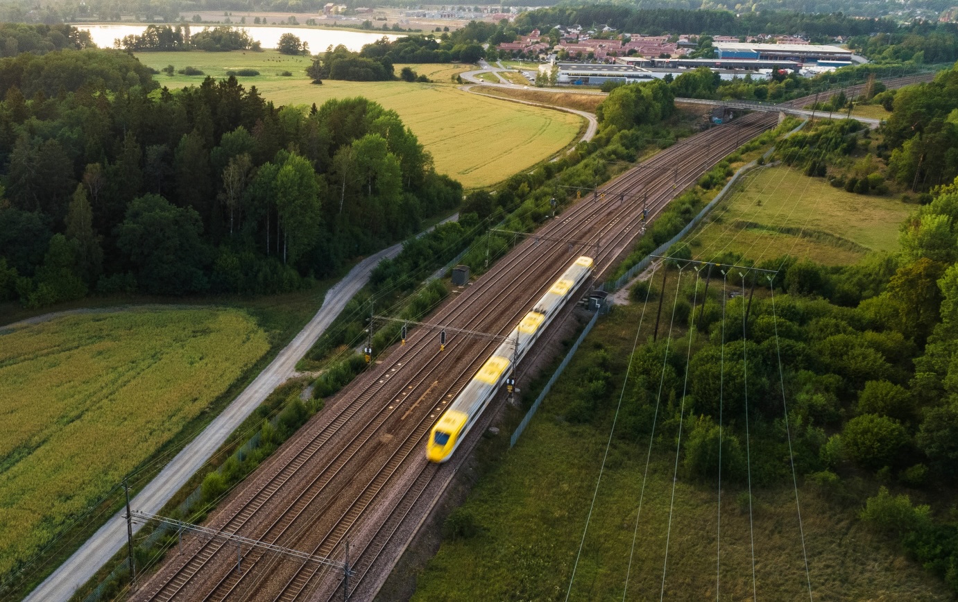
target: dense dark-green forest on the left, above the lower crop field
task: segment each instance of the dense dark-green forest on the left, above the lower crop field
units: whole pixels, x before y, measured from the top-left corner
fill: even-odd
[[[206,78],[160,89],[110,50],[0,60],[0,298],[272,293],[455,207],[399,120],[364,99],[276,107]]]

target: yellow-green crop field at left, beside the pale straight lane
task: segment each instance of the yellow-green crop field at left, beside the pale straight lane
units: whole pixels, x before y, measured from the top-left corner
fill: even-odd
[[[0,575],[141,465],[269,349],[235,309],[0,329]]]

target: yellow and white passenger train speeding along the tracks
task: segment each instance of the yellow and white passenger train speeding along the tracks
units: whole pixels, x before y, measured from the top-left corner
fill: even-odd
[[[510,377],[513,362],[520,361],[532,348],[539,333],[592,273],[592,265],[592,257],[576,259],[479,368],[429,433],[425,451],[429,461],[445,462],[452,456],[492,397]]]

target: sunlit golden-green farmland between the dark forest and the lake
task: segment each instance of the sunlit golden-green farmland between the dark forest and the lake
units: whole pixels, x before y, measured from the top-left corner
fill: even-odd
[[[363,96],[394,109],[432,153],[437,171],[467,188],[490,186],[516,171],[532,167],[576,140],[582,119],[564,113],[513,102],[483,98],[459,90],[450,76],[466,70],[454,65],[411,65],[435,83],[404,81],[334,81],[313,85],[304,70],[305,56],[263,53],[139,53],[154,69],[187,65],[214,78],[227,71],[256,69],[260,76],[239,78],[255,85],[263,97],[277,104],[322,104],[333,98]],[[402,65],[397,65],[397,72]],[[291,77],[279,74],[289,71]],[[198,84],[202,77],[156,76],[170,88]]]

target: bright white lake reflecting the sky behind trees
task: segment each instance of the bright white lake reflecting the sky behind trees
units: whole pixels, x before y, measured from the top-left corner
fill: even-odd
[[[170,25],[176,26],[175,23]],[[140,35],[147,29],[146,25],[77,25],[76,27],[88,31],[94,43],[100,48],[113,48],[113,40],[130,34]],[[190,32],[201,32],[203,27],[202,24],[191,23]],[[207,27],[216,26],[210,25]],[[352,51],[358,51],[383,35],[389,39],[399,37],[396,33],[360,33],[300,27],[243,27],[242,29],[246,30],[250,37],[260,42],[263,48],[276,48],[281,35],[293,33],[304,42],[309,43],[309,52],[313,54],[325,51],[329,45],[338,46],[339,44]]]

